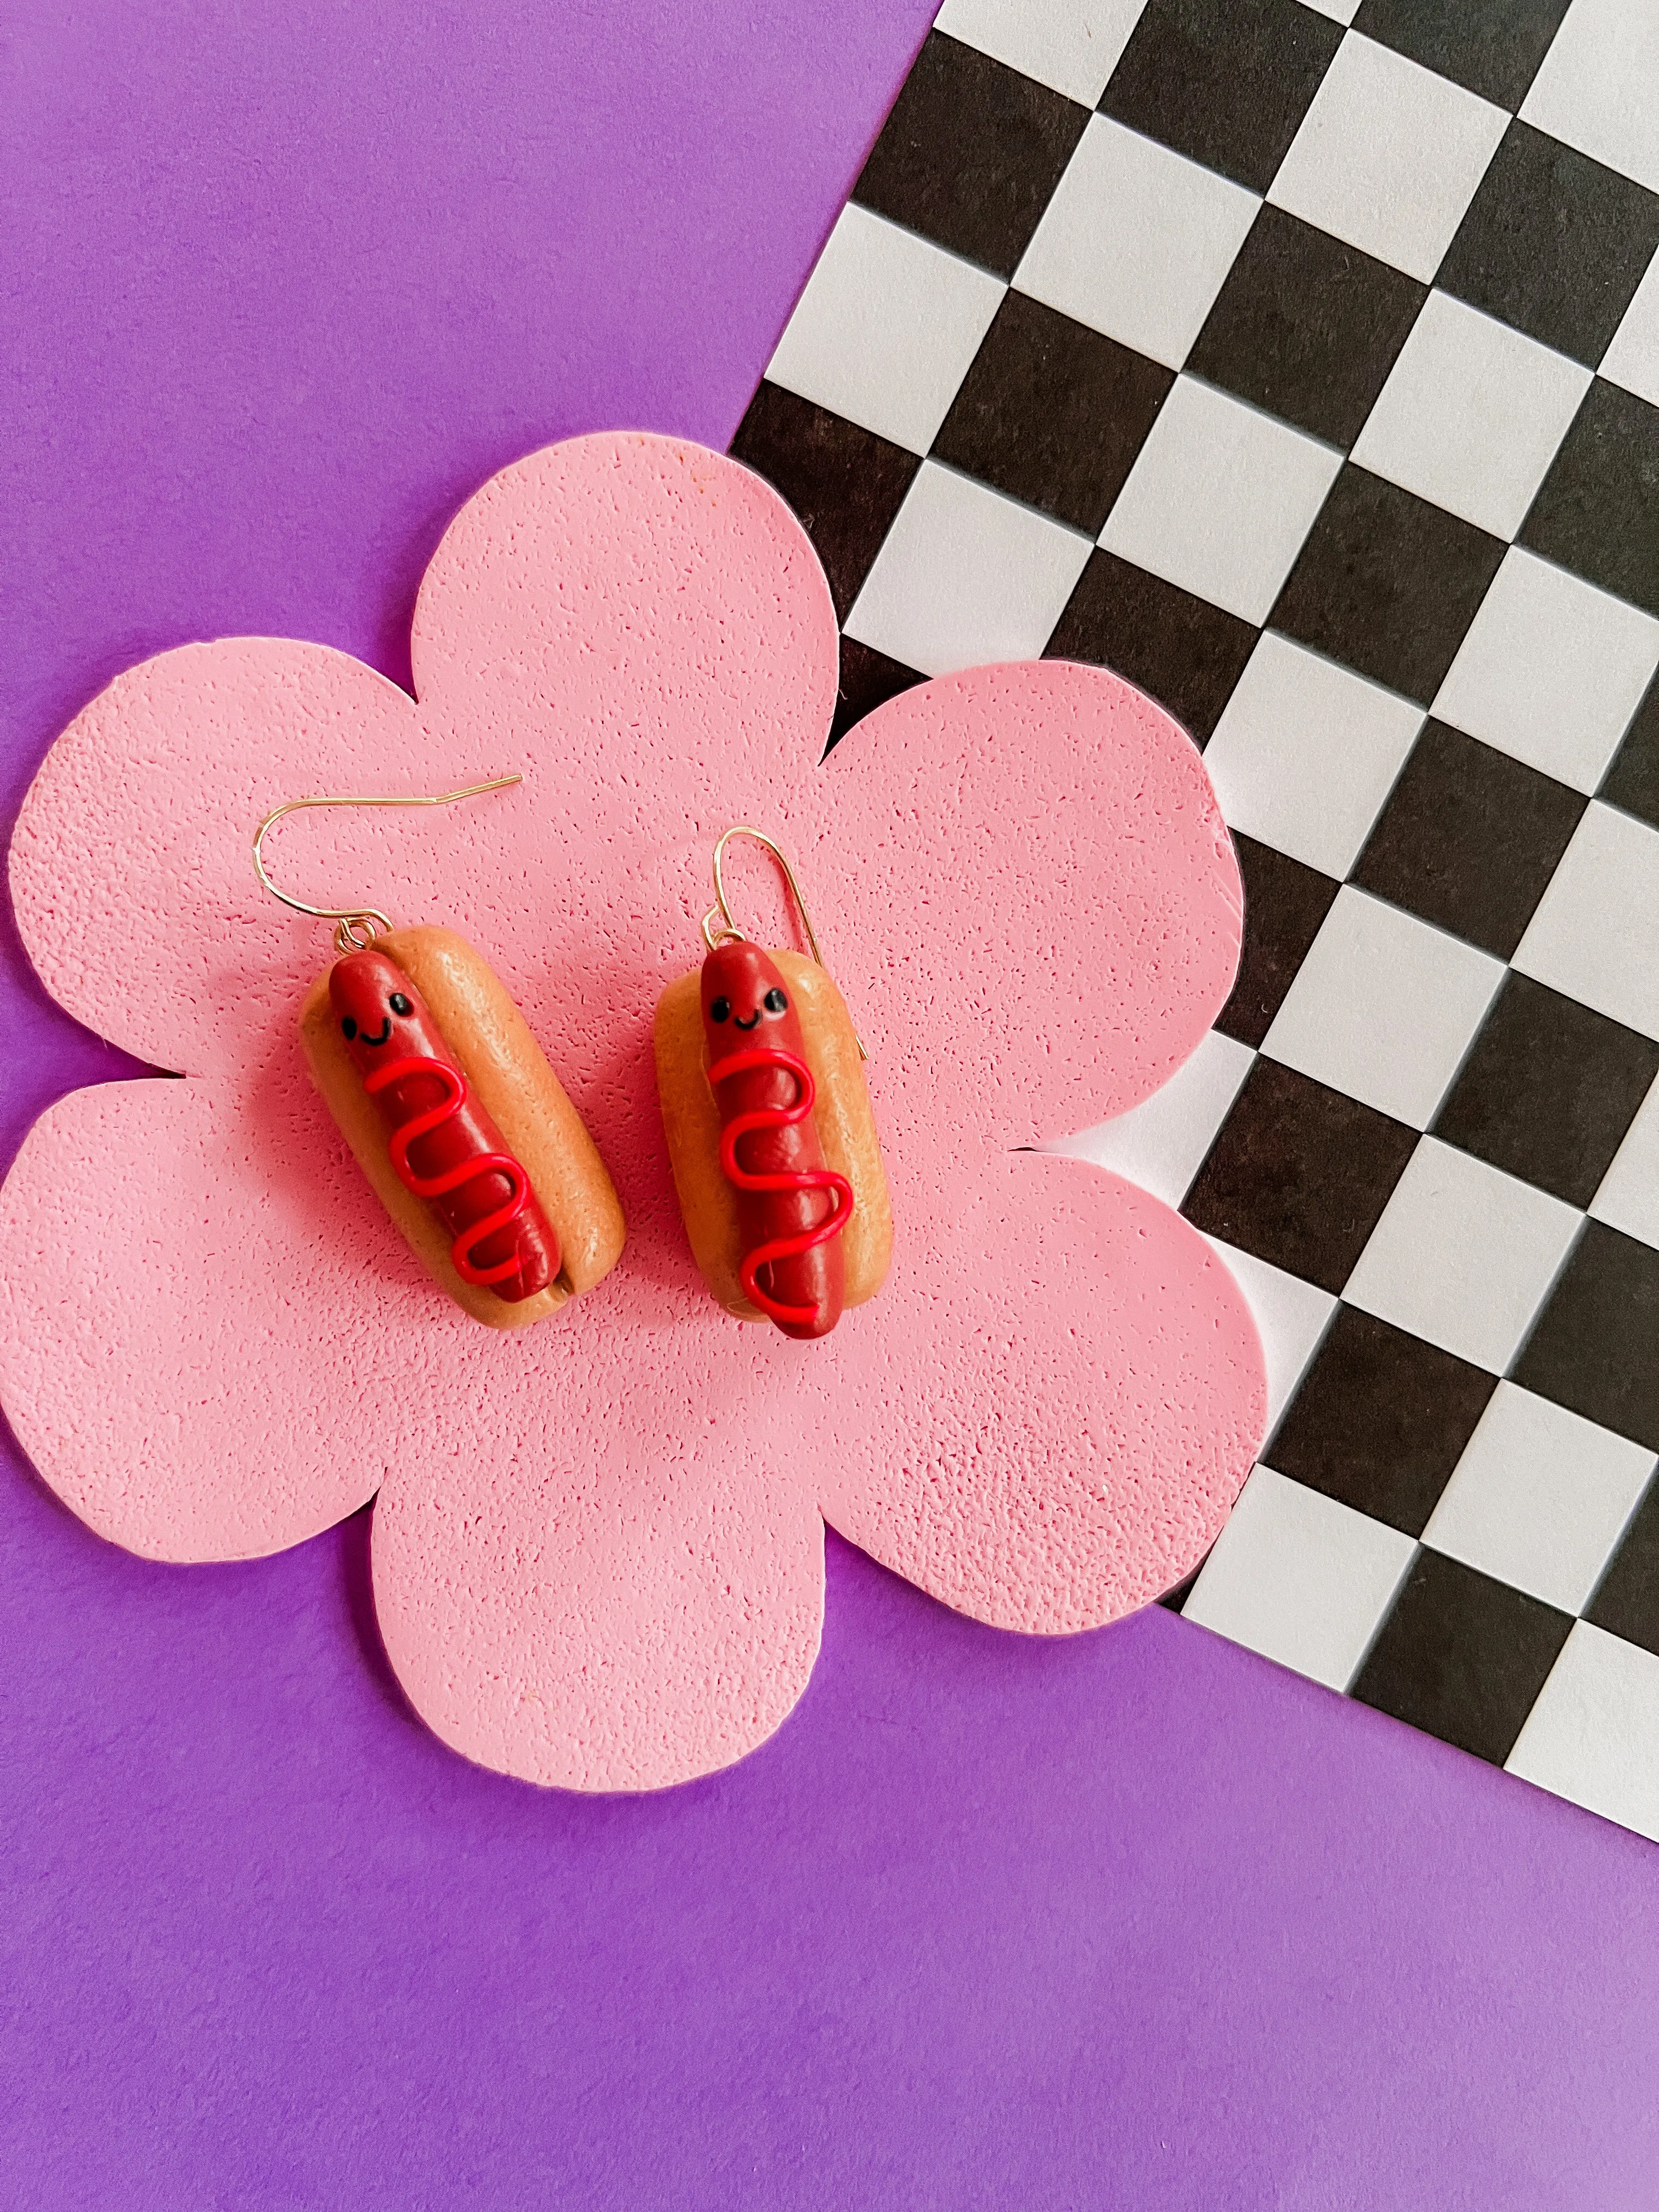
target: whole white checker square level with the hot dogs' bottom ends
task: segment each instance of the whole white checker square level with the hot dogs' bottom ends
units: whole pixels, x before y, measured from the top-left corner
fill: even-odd
[[[1582,1219],[1544,1190],[1425,1137],[1343,1298],[1500,1376]]]

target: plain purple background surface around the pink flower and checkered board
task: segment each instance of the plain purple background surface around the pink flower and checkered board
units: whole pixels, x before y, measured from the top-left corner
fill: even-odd
[[[7,821],[181,639],[407,677],[515,453],[726,445],[927,11],[13,7]],[[4,1157],[124,1066],[7,967]],[[0,1524],[7,2203],[1652,2203],[1659,1854],[1166,1613],[832,1542],[783,1732],[588,1803],[407,1714],[363,1517],[155,1568],[13,1451]]]

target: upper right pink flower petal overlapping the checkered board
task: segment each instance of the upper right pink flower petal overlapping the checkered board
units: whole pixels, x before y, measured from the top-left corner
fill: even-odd
[[[1102,668],[969,668],[830,754],[807,880],[907,1102],[993,1146],[1126,1113],[1225,1004],[1243,889],[1192,741]]]

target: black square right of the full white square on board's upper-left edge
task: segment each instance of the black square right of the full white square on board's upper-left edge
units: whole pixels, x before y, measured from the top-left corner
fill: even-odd
[[[1097,538],[1175,372],[1009,292],[933,458]]]

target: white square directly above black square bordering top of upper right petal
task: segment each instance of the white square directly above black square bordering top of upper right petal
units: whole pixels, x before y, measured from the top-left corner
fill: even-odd
[[[1177,376],[1099,542],[1245,622],[1265,622],[1343,456]]]

